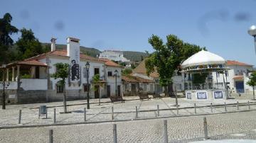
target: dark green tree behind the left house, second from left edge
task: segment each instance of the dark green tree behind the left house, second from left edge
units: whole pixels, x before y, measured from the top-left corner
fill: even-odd
[[[18,50],[21,52],[22,59],[27,59],[45,52],[41,42],[39,42],[39,40],[34,36],[31,29],[21,29],[21,38],[18,39],[16,45],[18,46]]]

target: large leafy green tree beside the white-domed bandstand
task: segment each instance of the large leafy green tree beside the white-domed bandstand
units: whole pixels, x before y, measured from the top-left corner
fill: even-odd
[[[176,35],[167,35],[167,42],[157,35],[149,38],[149,44],[154,48],[154,52],[146,59],[146,74],[150,74],[155,70],[159,73],[159,84],[165,87],[167,94],[167,86],[172,84],[172,77],[175,70],[179,70],[181,62],[191,55],[199,52],[201,47],[184,43]]]

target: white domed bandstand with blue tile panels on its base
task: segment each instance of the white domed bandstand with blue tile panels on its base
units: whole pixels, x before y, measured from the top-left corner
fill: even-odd
[[[226,90],[227,86],[223,89],[215,88],[213,87],[212,80],[210,80],[210,78],[212,78],[210,74],[213,72],[217,74],[218,72],[224,73],[228,70],[225,67],[225,59],[223,59],[223,57],[215,55],[212,52],[201,50],[186,59],[186,61],[181,64],[181,69],[184,74],[189,74],[189,77],[192,77],[192,79],[193,74],[208,73],[205,84],[201,86],[193,86],[193,80],[188,79],[192,84],[192,88],[186,90],[187,99],[212,101],[215,99],[228,98],[228,96],[226,96],[228,95],[228,91]]]

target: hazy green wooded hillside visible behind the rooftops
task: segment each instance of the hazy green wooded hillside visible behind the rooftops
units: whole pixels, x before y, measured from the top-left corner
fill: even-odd
[[[44,47],[50,47],[50,43],[42,43]],[[56,44],[56,49],[65,49],[67,45]],[[97,50],[94,47],[84,47],[80,46],[80,52],[90,55],[92,57],[97,57],[100,54],[100,50]],[[123,51],[124,57],[130,59],[132,62],[141,62],[148,55],[145,52],[134,52],[134,51]]]

